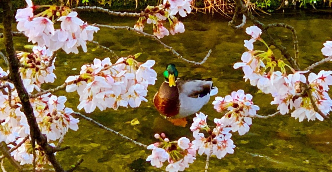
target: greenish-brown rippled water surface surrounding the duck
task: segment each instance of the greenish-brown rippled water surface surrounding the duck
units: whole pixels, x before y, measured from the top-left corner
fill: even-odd
[[[102,13],[79,13],[79,16],[89,23],[107,24],[114,26],[133,26],[134,18],[113,17]],[[308,13],[273,14],[260,16],[265,24],[284,22],[292,25],[297,33],[300,49],[300,67],[319,61],[324,56],[321,53],[323,43],[332,40],[332,16],[311,15]],[[120,133],[144,144],[156,141],[154,133],[165,132],[170,140],[187,136],[192,139],[189,127],[194,116],[188,117],[187,127],[176,127],[161,118],[155,110],[152,99],[163,82],[162,72],[168,63],[175,63],[182,78],[211,77],[214,85],[219,88],[218,96],[229,95],[232,91],[243,89],[254,96],[254,103],[260,106],[259,114],[267,115],[276,112],[277,106],[270,105],[272,97],[258,93],[256,87],[244,82],[241,69],[234,70],[233,64],[240,61],[241,54],[246,50],[243,40],[250,39],[244,29],[234,30],[228,26],[228,20],[215,16],[193,14],[180,19],[186,27],[186,32],[176,36],[161,39],[164,43],[174,47],[189,60],[201,61],[209,49],[211,56],[201,66],[194,66],[174,57],[163,46],[150,38],[143,37],[126,30],[111,30],[101,28],[95,34],[95,41],[114,50],[119,56],[127,56],[142,52],[138,61],[154,59],[154,69],[158,73],[156,85],[148,88],[147,103],[138,108],[119,108],[114,111],[108,109],[100,112],[96,110],[88,117],[101,124],[119,131]],[[246,27],[251,26],[246,24]],[[144,31],[152,32],[152,26],[146,25]],[[292,36],[288,30],[282,28],[271,29],[270,33],[292,50]],[[264,35],[262,36],[264,39]],[[26,44],[26,38],[15,38],[19,49]],[[94,58],[105,58],[110,53],[94,44],[88,44],[88,53],[65,54],[58,52],[56,59],[57,80],[54,84],[44,85],[52,88],[64,82],[68,75],[77,75],[80,67],[92,63]],[[255,49],[264,50],[261,43],[255,44]],[[20,49],[22,50],[22,49]],[[277,56],[280,52],[272,48]],[[291,51],[293,54],[293,52]],[[115,62],[114,58],[111,58]],[[77,70],[72,70],[77,68]],[[331,63],[319,66],[320,69],[331,70]],[[319,70],[315,70],[318,72]],[[58,96],[65,94],[68,98],[66,106],[77,110],[78,95],[67,94],[65,91],[54,93]],[[331,91],[330,91],[330,95]],[[213,125],[214,118],[220,118],[211,102],[201,111],[208,115],[208,124]],[[84,111],[80,111],[85,114]],[[132,126],[130,122],[137,118],[140,124]],[[226,171],[331,171],[332,170],[332,122],[330,120],[299,123],[290,115],[278,115],[270,119],[253,119],[253,125],[248,133],[239,136],[233,133],[232,139],[236,145],[234,154],[227,154],[223,159],[211,157],[211,172]],[[163,171],[152,167],[145,158],[151,153],[119,136],[103,130],[95,124],[80,119],[79,130],[70,130],[65,136],[63,145],[71,148],[57,153],[57,158],[64,167],[69,167],[79,158],[84,162],[78,171],[86,172],[122,172],[122,171]],[[186,171],[204,171],[206,156],[197,156],[197,160]]]

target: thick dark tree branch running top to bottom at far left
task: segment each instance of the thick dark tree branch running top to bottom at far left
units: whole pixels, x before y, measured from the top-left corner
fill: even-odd
[[[36,117],[34,115],[34,110],[29,101],[29,94],[25,89],[22,78],[20,76],[20,62],[19,59],[16,57],[13,43],[12,21],[14,14],[12,10],[11,0],[2,0],[1,5],[3,9],[4,44],[6,46],[6,52],[9,61],[9,76],[20,98],[22,104],[22,111],[27,117],[27,121],[30,127],[31,138],[35,139],[37,141],[37,144],[42,147],[43,151],[46,154],[47,160],[51,162],[55,171],[63,172],[64,170],[61,164],[55,159],[54,153],[52,151],[52,146],[48,144],[46,136],[41,134],[41,131],[36,121]]]

